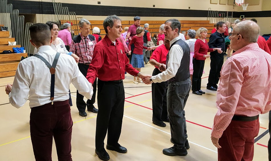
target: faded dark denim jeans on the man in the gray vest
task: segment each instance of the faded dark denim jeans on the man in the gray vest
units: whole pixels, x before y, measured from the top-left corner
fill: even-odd
[[[170,120],[171,138],[175,148],[182,148],[187,139],[184,107],[190,89],[190,78],[180,82],[168,83],[168,118]]]

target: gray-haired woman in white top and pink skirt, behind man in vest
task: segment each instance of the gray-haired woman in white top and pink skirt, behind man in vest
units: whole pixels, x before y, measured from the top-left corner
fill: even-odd
[[[189,66],[189,70],[190,70],[190,79],[192,81],[192,76],[193,76],[193,56],[194,56],[194,51],[195,51],[195,42],[196,42],[196,31],[195,30],[191,30],[189,29],[187,31],[187,40],[186,43],[188,44],[189,48],[190,48],[190,66]]]

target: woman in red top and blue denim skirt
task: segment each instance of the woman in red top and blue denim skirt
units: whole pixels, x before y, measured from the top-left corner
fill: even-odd
[[[133,55],[131,59],[131,65],[138,70],[139,72],[141,71],[141,68],[144,67],[144,60],[143,60],[143,49],[148,49],[147,47],[143,46],[143,35],[145,29],[143,27],[138,27],[136,29],[136,34],[132,40],[129,43],[129,52],[131,52],[131,45],[134,44],[135,48],[133,50]],[[138,84],[138,82],[143,83],[142,80],[139,79],[139,77],[134,77],[135,84]]]

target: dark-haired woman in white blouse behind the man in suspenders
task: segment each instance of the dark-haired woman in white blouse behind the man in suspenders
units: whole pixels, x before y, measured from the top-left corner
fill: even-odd
[[[53,41],[51,43],[51,47],[54,49],[54,51],[62,53],[62,54],[71,55],[75,59],[76,63],[78,63],[79,57],[77,55],[75,55],[74,53],[69,52],[66,49],[64,42],[59,37],[57,37],[58,36],[58,24],[53,21],[48,21],[48,22],[46,22],[46,25],[49,26],[49,28],[51,30],[51,36],[53,36]],[[36,53],[37,53],[37,49],[35,48],[34,54],[36,54]]]

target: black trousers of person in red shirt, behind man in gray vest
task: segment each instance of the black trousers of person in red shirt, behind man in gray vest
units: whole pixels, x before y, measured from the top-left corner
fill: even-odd
[[[152,76],[160,72],[155,68]],[[166,93],[168,91],[168,82],[152,83],[152,122],[158,124],[168,120]]]

